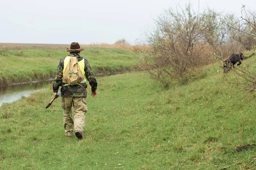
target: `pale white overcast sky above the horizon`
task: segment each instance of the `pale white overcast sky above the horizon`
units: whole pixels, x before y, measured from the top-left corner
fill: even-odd
[[[198,0],[190,0],[196,11]],[[0,0],[0,42],[80,44],[124,38],[141,42],[164,9],[189,0]],[[239,17],[242,4],[254,11],[256,0],[200,0],[218,12]]]

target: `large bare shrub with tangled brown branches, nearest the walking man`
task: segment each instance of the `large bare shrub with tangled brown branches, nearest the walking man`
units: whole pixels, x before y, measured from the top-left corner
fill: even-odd
[[[190,4],[184,10],[166,10],[155,20],[157,29],[148,37],[151,51],[141,59],[152,79],[169,87],[204,75],[198,67],[214,62],[212,45],[204,38],[208,26],[204,20],[204,14],[192,11]]]

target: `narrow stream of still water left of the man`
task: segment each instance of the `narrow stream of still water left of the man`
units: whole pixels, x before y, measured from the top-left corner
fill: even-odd
[[[23,96],[28,97],[36,91],[46,90],[49,88],[49,84],[52,84],[52,81],[0,86],[0,107],[3,103],[15,102]]]

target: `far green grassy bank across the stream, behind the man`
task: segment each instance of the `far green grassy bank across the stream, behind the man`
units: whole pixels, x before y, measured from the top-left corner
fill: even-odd
[[[64,50],[0,50],[0,85],[55,77]],[[81,56],[87,59],[95,74],[128,71],[135,67],[131,51],[107,48],[85,48]]]

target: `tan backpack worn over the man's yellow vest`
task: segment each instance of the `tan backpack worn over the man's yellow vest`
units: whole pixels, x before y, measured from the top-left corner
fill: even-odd
[[[67,62],[66,68],[65,62]],[[67,56],[65,58],[62,80],[66,82],[67,85],[78,85],[84,80],[84,74],[79,67],[79,63],[76,57]]]

